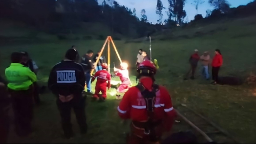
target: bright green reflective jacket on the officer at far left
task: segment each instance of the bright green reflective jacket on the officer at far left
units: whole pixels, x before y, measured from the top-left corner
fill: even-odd
[[[20,63],[11,63],[10,67],[5,69],[5,76],[12,90],[28,90],[29,86],[36,82],[36,75],[28,67]]]

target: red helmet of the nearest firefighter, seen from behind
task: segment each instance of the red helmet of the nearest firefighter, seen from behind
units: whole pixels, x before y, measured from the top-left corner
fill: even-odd
[[[139,74],[156,74],[156,66],[155,64],[150,60],[145,60],[140,63],[140,66],[138,67]]]

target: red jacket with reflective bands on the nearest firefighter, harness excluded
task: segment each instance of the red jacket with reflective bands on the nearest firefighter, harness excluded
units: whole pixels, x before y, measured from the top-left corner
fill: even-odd
[[[151,78],[140,79],[141,84],[148,90],[152,89],[153,81]],[[125,94],[117,107],[118,114],[123,119],[132,121],[146,122],[148,120],[146,101],[137,87],[131,87]],[[164,118],[173,119],[176,112],[172,107],[169,92],[163,86],[159,86],[156,92],[154,121]],[[171,122],[171,121],[170,121]]]

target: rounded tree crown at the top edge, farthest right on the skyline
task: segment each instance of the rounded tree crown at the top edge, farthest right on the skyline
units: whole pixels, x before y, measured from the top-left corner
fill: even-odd
[[[215,10],[219,10],[221,13],[227,13],[230,9],[230,4],[227,0],[209,0],[209,3]]]

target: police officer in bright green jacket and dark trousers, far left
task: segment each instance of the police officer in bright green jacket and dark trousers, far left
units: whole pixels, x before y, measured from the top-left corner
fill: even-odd
[[[32,131],[33,83],[36,82],[36,75],[22,65],[27,62],[22,53],[12,53],[11,61],[11,65],[5,69],[5,76],[12,97],[15,131],[19,136],[27,136]]]

